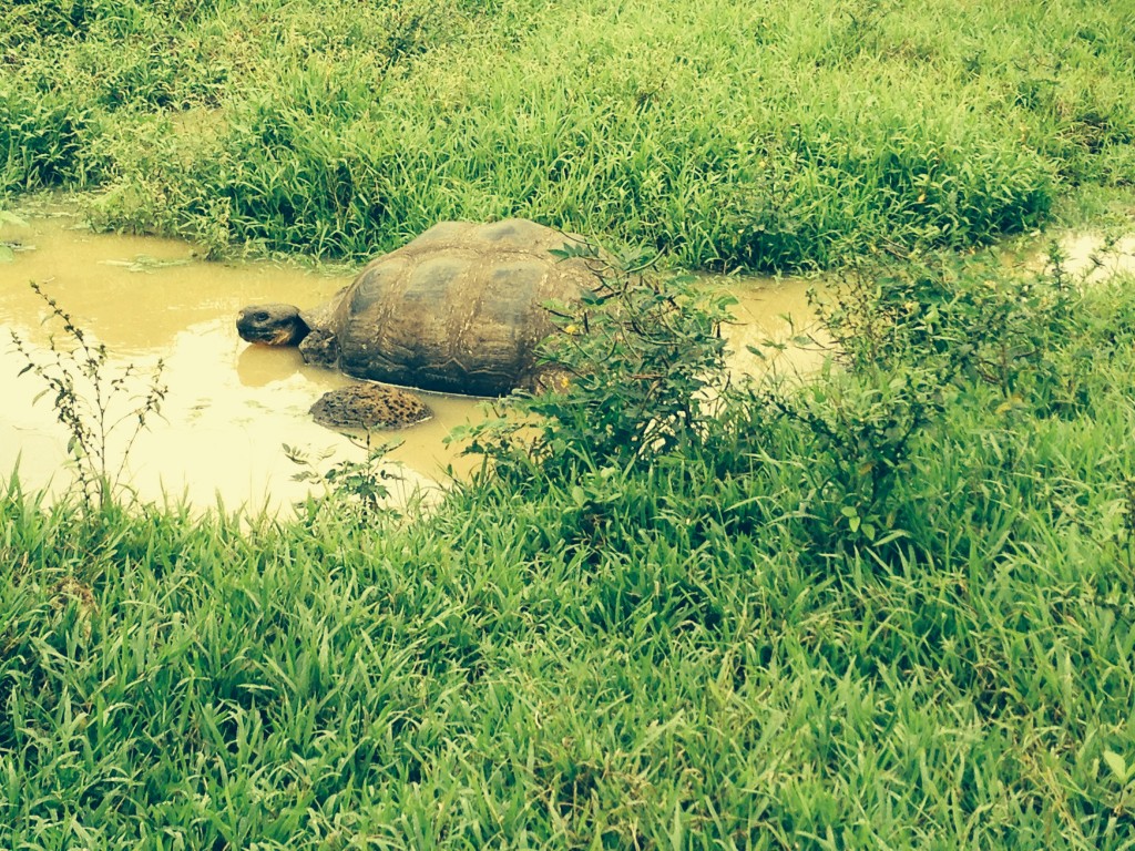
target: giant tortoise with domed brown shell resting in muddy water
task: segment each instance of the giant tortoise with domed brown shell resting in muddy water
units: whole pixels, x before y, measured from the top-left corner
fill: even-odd
[[[444,221],[371,261],[322,306],[252,305],[236,327],[355,378],[498,396],[538,378],[536,345],[553,330],[544,304],[595,286],[586,260],[549,253],[577,241],[524,219]]]

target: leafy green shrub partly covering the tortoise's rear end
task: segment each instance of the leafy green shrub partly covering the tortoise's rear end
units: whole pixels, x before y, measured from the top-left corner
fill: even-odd
[[[457,437],[498,465],[523,456],[553,477],[649,466],[711,440],[728,386],[720,327],[731,298],[653,273],[641,256],[613,260],[592,245],[556,253],[588,259],[599,283],[578,303],[549,306],[544,387],[513,394],[507,419]]]

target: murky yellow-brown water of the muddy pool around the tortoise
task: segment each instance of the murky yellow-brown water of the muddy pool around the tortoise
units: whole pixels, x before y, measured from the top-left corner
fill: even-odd
[[[1092,237],[1065,241],[1070,264],[1086,268]],[[1098,241],[1096,241],[1098,242]],[[45,354],[48,317],[31,290],[37,281],[114,354],[116,364],[166,364],[169,387],[162,419],[140,435],[129,454],[125,479],[146,500],[184,496],[208,507],[220,498],[232,509],[242,505],[277,511],[301,499],[310,486],[295,482],[295,465],[283,450],[289,444],[313,454],[330,452],[326,466],[362,453],[344,437],[317,426],[308,408],[325,391],[350,379],[306,366],[296,349],[250,346],[234,327],[237,311],[254,302],[318,304],[350,283],[338,275],[276,264],[207,263],[192,246],[173,239],[92,234],[76,217],[56,214],[0,224],[0,474],[18,463],[27,488],[60,490],[70,481],[67,433],[56,421],[52,398],[36,395],[34,374],[17,377],[25,360],[8,343],[17,332]],[[1120,247],[1127,263],[1135,241]],[[738,322],[726,328],[733,366],[759,372],[767,364],[747,351],[765,340],[815,332],[801,279],[730,278],[718,281],[738,298]],[[789,319],[791,318],[791,320]],[[818,349],[796,348],[780,356],[777,369],[808,372],[823,361]],[[457,455],[443,438],[457,424],[484,414],[480,402],[422,394],[435,411],[429,422],[380,436],[403,440],[390,458],[401,482],[395,491],[438,488],[446,467],[460,475],[478,463]]]

